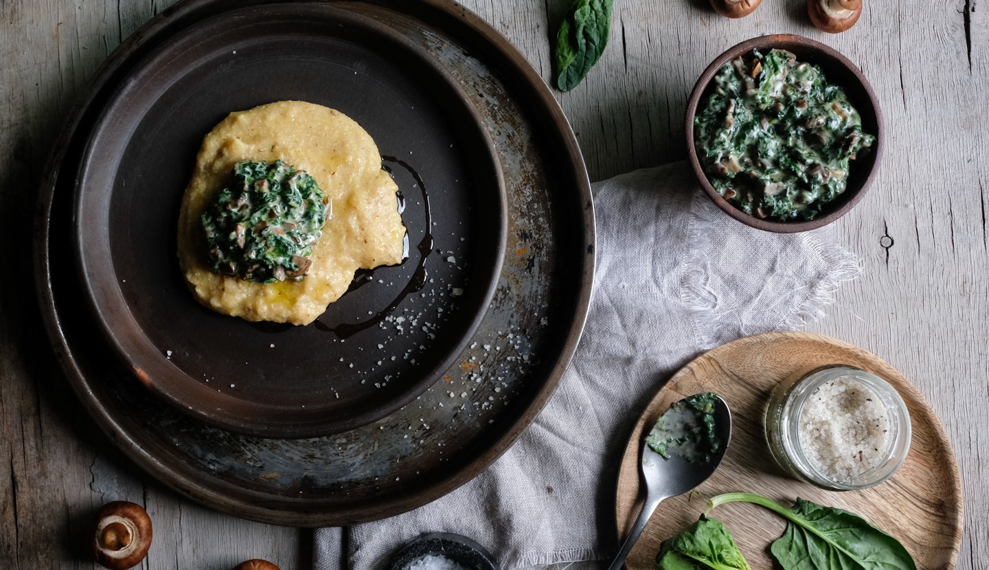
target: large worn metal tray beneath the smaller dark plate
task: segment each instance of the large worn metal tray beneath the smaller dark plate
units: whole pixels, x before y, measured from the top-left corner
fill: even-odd
[[[491,465],[553,393],[577,347],[590,297],[590,184],[577,141],[542,78],[462,6],[448,0],[307,3],[400,32],[456,79],[483,118],[507,197],[507,248],[491,306],[439,381],[364,427],[306,439],[261,438],[163,406],[134,381],[104,335],[94,333],[95,319],[80,302],[74,173],[102,103],[139,61],[198,22],[262,3],[178,2],[94,75],[52,148],[40,193],[36,268],[45,327],[80,404],[140,468],[183,496],[276,524],[383,519],[433,501]]]

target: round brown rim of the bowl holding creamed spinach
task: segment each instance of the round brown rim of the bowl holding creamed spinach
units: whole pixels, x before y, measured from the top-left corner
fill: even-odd
[[[711,79],[714,78],[714,75],[731,59],[751,51],[752,49],[770,46],[782,47],[786,49],[789,49],[790,47],[809,48],[820,52],[824,57],[833,59],[840,65],[846,67],[861,84],[861,87],[868,96],[868,104],[871,106],[875,115],[876,143],[872,148],[872,166],[865,175],[865,180],[862,182],[861,188],[851,194],[848,201],[840,208],[814,220],[808,220],[805,222],[773,222],[771,220],[764,220],[756,218],[755,216],[750,216],[739,210],[730,202],[725,200],[721,194],[718,194],[714,187],[711,186],[711,183],[707,179],[707,174],[700,165],[700,160],[697,157],[697,149],[694,146],[693,119],[697,114],[697,107],[699,106],[700,98],[704,94],[708,84],[710,84]],[[827,46],[796,34],[768,34],[765,36],[759,36],[757,38],[752,38],[746,40],[745,42],[736,44],[733,47],[729,47],[728,49],[722,51],[720,55],[715,57],[714,60],[711,61],[711,63],[708,64],[708,66],[700,74],[700,77],[697,78],[697,82],[694,83],[693,90],[690,92],[690,97],[687,99],[686,112],[684,114],[684,133],[686,134],[687,158],[690,162],[690,167],[693,170],[694,177],[697,178],[697,182],[700,183],[700,186],[704,189],[711,200],[719,208],[721,208],[721,210],[735,220],[758,230],[764,230],[765,232],[773,232],[776,234],[795,234],[798,232],[816,230],[831,224],[852,210],[854,205],[861,200],[862,196],[865,195],[865,191],[872,185],[872,181],[875,178],[876,171],[878,170],[879,163],[881,162],[883,148],[885,146],[882,109],[879,107],[879,101],[875,96],[875,91],[872,90],[872,86],[865,78],[865,75],[862,73],[861,69],[859,69],[852,62],[852,60],[843,55],[834,47]]]

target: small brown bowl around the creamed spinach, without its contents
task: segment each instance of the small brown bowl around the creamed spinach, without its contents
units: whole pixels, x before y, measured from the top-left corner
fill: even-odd
[[[798,61],[820,65],[829,81],[841,85],[845,89],[849,102],[852,103],[861,116],[862,130],[875,135],[876,140],[871,152],[853,160],[849,168],[849,181],[845,192],[835,201],[828,204],[820,216],[806,222],[774,222],[764,220],[750,216],[733,206],[730,202],[722,198],[714,187],[711,186],[711,183],[707,179],[707,174],[700,165],[697,157],[697,149],[694,145],[693,120],[697,114],[697,108],[702,104],[706,105],[708,96],[714,89],[712,79],[718,70],[725,63],[739,55],[749,53],[753,49],[764,51],[773,47],[792,51],[796,54]],[[707,66],[707,69],[704,69],[704,72],[700,74],[700,78],[697,79],[697,83],[690,93],[690,99],[687,101],[686,106],[685,129],[690,166],[693,168],[693,173],[700,182],[700,185],[707,192],[707,195],[711,197],[711,200],[719,208],[727,212],[729,216],[739,222],[753,228],[758,228],[759,230],[779,234],[815,230],[827,226],[844,216],[861,199],[865,194],[865,190],[872,183],[872,178],[876,170],[875,166],[879,163],[882,157],[882,149],[885,146],[885,136],[882,128],[882,111],[879,109],[879,102],[875,98],[875,93],[872,91],[871,85],[868,84],[861,70],[847,57],[832,47],[791,34],[763,36],[747,40],[738,46],[728,48],[721,55],[718,55]]]

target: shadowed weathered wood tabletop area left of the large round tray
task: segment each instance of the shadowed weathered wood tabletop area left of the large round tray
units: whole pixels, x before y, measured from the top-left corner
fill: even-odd
[[[30,236],[34,188],[60,121],[100,62],[168,2],[0,2],[0,214]],[[4,248],[7,267],[29,263]],[[20,273],[19,273],[20,274]],[[308,560],[296,529],[240,521],[187,501],[138,472],[80,413],[53,361],[34,285],[0,287],[0,566],[94,568],[84,537],[99,507],[129,500],[155,526],[145,569],[225,570],[265,557]]]

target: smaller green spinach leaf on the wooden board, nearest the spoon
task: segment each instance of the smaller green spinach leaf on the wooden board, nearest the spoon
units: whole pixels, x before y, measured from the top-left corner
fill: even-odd
[[[663,541],[656,564],[661,570],[749,570],[728,528],[703,515]]]

